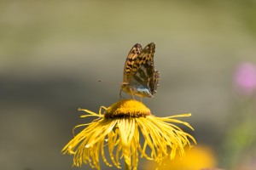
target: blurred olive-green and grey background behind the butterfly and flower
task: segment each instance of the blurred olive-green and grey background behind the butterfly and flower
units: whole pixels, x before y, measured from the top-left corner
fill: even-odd
[[[1,1],[0,169],[77,169],[61,155],[84,122],[77,109],[119,100],[136,42],[156,43],[160,71],[143,103],[156,116],[192,112],[189,133],[228,168],[221,145],[241,101],[234,70],[256,62],[255,0]]]

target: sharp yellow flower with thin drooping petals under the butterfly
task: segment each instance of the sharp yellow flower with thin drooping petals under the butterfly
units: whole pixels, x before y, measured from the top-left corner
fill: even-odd
[[[104,114],[102,109],[105,109]],[[193,136],[172,124],[180,123],[193,129],[189,123],[175,119],[191,114],[156,117],[151,115],[145,105],[133,99],[120,100],[108,108],[102,106],[98,114],[84,109],[79,111],[89,113],[81,117],[98,118],[88,124],[78,125],[77,127],[85,126],[84,130],[62,150],[63,154],[73,155],[73,165],[77,167],[89,163],[91,167],[100,169],[99,161],[102,156],[102,160],[109,167],[114,165],[121,168],[119,159],[124,157],[125,168],[137,169],[139,153],[141,157],[160,164],[166,157],[173,159],[176,153],[184,156],[184,146],[190,146],[189,139],[195,142]],[[143,139],[140,139],[140,133]],[[112,163],[105,156],[105,146],[108,146]],[[148,148],[150,154],[146,153]]]

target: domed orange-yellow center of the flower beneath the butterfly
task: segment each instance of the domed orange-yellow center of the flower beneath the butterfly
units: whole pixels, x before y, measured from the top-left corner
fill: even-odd
[[[148,107],[134,99],[123,99],[110,105],[105,111],[105,118],[145,117],[151,115]]]

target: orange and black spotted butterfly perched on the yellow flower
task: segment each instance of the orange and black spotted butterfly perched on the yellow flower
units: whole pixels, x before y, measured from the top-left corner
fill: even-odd
[[[140,43],[136,43],[129,52],[121,83],[121,92],[139,97],[153,97],[158,87],[160,79],[159,71],[154,70],[154,42],[148,43],[143,48]]]

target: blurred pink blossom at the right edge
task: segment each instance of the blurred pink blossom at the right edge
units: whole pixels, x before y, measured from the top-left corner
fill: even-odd
[[[256,89],[256,65],[241,63],[235,72],[235,89],[242,94],[253,94]]]

